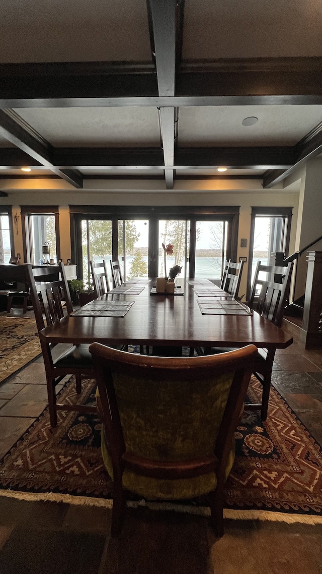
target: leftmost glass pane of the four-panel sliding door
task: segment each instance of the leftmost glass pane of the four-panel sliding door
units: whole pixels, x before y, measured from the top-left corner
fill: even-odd
[[[83,277],[85,288],[91,284],[89,261],[112,258],[112,222],[109,220],[83,219],[81,222]],[[109,269],[109,263],[108,263]],[[112,277],[109,277],[111,283]]]

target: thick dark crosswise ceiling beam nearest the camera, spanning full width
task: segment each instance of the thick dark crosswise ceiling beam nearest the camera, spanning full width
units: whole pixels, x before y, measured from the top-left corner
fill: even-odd
[[[152,63],[0,64],[1,108],[321,103],[321,57],[183,62],[175,96],[159,95]]]

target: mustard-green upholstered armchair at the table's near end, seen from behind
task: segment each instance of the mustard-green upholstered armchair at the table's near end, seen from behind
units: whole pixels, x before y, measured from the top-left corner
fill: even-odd
[[[135,355],[92,343],[103,417],[102,455],[113,479],[112,534],[125,491],[148,499],[209,494],[223,534],[223,486],[257,348],[191,358]]]

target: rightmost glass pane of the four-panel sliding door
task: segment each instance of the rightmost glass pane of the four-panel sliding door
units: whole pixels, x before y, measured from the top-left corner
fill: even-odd
[[[228,222],[197,221],[195,278],[221,279],[226,261]]]

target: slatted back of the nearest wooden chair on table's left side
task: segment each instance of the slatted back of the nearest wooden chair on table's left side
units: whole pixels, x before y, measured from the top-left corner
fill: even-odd
[[[38,331],[73,311],[64,263],[50,267],[30,266],[30,296]],[[46,324],[44,321],[45,314]]]

